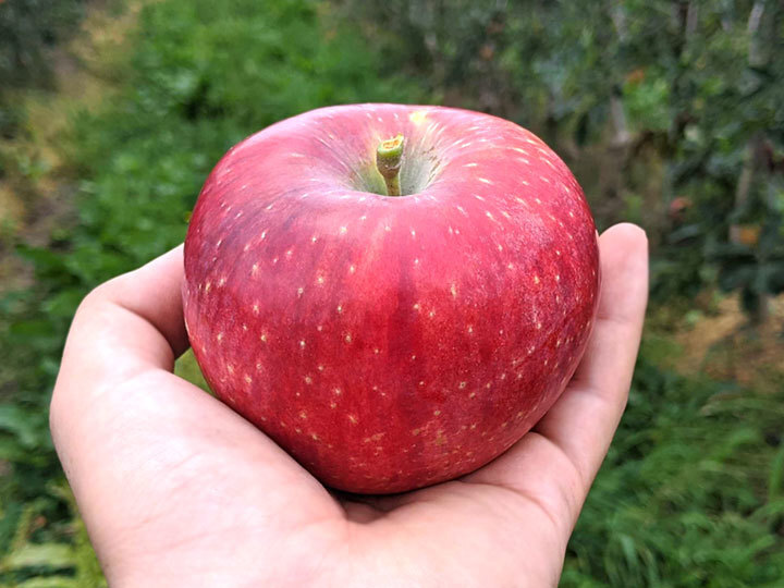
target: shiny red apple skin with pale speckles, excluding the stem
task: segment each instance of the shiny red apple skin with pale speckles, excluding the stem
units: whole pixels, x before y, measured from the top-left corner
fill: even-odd
[[[417,192],[363,191],[399,133],[404,194]],[[221,159],[191,219],[183,299],[223,402],[324,485],[393,493],[481,467],[544,415],[599,283],[583,191],[534,134],[466,110],[352,105]]]

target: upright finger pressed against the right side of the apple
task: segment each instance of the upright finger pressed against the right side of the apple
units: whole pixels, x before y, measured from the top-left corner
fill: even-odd
[[[648,296],[645,233],[632,224],[600,238],[596,324],[575,378],[535,429],[465,481],[511,488],[568,535],[626,405]]]

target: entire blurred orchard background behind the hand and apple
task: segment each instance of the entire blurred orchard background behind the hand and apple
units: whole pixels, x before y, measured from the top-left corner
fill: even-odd
[[[183,240],[231,145],[357,101],[511,119],[651,238],[562,586],[784,586],[784,3],[0,0],[0,587],[105,585],[47,427],[79,299]]]

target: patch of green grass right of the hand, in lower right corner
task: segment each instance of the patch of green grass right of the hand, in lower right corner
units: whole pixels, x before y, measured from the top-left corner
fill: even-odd
[[[678,377],[660,353],[644,345],[562,585],[780,586],[784,391]]]

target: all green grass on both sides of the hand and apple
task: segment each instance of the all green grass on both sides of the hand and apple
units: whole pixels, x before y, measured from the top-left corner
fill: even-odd
[[[63,144],[75,219],[19,243],[32,286],[0,296],[0,587],[100,586],[47,429],[69,321],[101,281],[180,243],[218,158],[287,115],[428,101],[330,4],[162,0],[139,15],[117,96]],[[784,584],[784,392],[686,378],[642,347],[629,406],[569,543],[563,586]],[[177,373],[196,381],[192,356]]]

